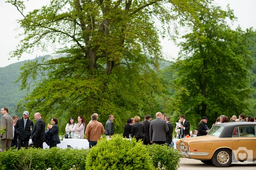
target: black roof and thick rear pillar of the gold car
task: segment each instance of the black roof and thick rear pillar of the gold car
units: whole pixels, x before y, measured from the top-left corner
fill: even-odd
[[[246,126],[246,125],[256,125],[256,122],[229,122],[229,123],[223,123],[223,124],[216,124],[213,126],[223,126],[224,129],[221,132],[219,138],[231,138],[234,128],[236,126]]]

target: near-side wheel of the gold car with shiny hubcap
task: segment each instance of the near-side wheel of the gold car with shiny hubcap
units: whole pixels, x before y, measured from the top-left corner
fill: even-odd
[[[232,153],[229,149],[218,149],[212,156],[212,162],[217,167],[228,167],[232,163]]]

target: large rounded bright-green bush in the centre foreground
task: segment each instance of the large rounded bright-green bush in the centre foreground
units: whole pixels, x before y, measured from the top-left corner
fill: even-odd
[[[114,135],[111,140],[103,138],[92,147],[86,159],[86,170],[97,169],[153,169],[146,146],[136,139],[126,140]]]

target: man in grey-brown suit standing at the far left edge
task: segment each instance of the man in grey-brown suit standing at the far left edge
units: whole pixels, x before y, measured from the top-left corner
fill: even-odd
[[[6,107],[1,109],[1,115],[0,129],[4,130],[4,133],[0,134],[0,152],[4,151],[4,149],[8,150],[11,147],[13,139],[13,121]]]

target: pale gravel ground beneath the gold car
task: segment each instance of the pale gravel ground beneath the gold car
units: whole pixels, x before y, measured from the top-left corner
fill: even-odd
[[[219,168],[212,165],[206,165],[202,163],[200,160],[196,159],[188,159],[188,158],[181,158],[180,159],[180,168],[179,170],[212,170],[212,169],[224,169]],[[256,162],[252,162],[252,164],[241,164],[241,163],[232,163],[229,167],[225,169],[239,169],[239,170],[249,170],[249,169],[256,169]]]

